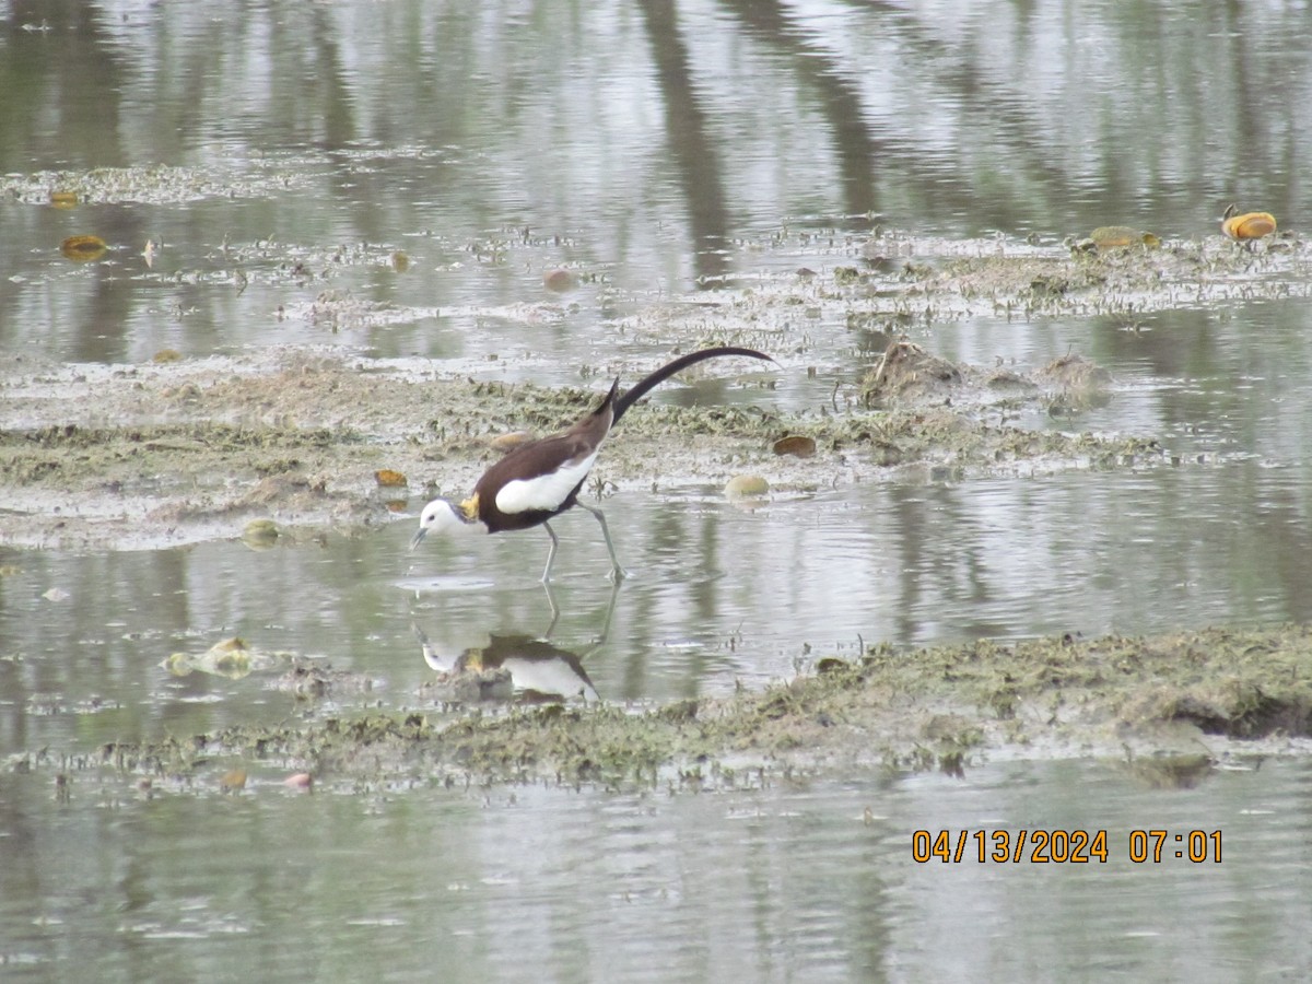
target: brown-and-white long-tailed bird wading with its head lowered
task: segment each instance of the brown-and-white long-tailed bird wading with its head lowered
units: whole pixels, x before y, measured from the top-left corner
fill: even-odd
[[[676,358],[639,382],[632,390],[619,396],[619,379],[610,386],[610,392],[597,409],[567,430],[538,441],[522,443],[501,461],[483,472],[474,485],[474,493],[462,502],[434,499],[424,506],[419,518],[419,531],[411,541],[411,550],[417,547],[429,533],[508,533],[543,526],[551,537],[551,551],[547,554],[547,567],[542,580],[551,580],[551,564],[556,559],[556,531],[547,522],[560,516],[565,509],[580,505],[597,517],[601,535],[606,538],[610,563],[615,580],[625,576],[625,569],[615,556],[615,544],[610,542],[606,517],[600,509],[579,501],[579,491],[592,471],[601,442],[610,429],[625,416],[625,411],[660,386],[676,373],[697,362],[722,356],[747,356],[773,362],[769,356],[756,349],[741,349],[723,345],[714,349],[691,352]]]

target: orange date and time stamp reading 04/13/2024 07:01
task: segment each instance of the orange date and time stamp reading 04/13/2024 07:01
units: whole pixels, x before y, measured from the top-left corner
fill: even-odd
[[[1135,865],[1164,861],[1190,861],[1195,865],[1221,861],[1220,830],[1131,830],[1126,854]],[[1019,865],[1106,865],[1118,854],[1106,830],[1019,829],[1019,830],[916,830],[911,837],[912,859],[917,863],[976,861]]]

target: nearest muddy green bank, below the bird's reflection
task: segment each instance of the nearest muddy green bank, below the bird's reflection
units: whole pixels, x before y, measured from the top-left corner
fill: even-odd
[[[678,791],[853,768],[960,773],[996,757],[1094,754],[1148,782],[1181,785],[1232,756],[1307,750],[1312,630],[876,647],[724,699],[640,711],[487,707],[237,727],[73,756],[43,749],[7,766],[49,769],[66,782],[117,774],[163,790],[218,790],[240,769],[256,785],[310,773],[348,789],[544,781]]]

